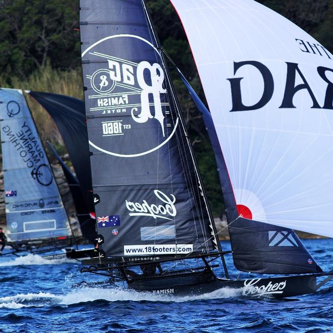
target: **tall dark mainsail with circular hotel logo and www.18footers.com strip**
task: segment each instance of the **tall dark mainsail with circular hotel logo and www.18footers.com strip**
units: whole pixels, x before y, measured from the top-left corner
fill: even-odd
[[[97,231],[106,256],[217,250],[190,141],[144,3],[80,1]]]

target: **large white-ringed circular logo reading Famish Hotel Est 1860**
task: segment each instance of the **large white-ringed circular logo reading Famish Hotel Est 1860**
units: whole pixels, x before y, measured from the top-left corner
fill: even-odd
[[[135,35],[114,35],[82,54],[89,144],[104,153],[136,157],[164,146],[178,117],[157,48]],[[85,71],[88,70],[88,73]]]

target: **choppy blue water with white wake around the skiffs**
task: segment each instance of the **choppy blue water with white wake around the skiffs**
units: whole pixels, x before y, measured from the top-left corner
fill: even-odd
[[[325,271],[333,239],[303,243]],[[229,242],[222,242],[230,248]],[[239,272],[227,258],[232,276]],[[315,295],[245,299],[221,289],[200,297],[151,295],[124,288],[73,288],[96,276],[67,259],[0,257],[1,332],[327,332],[333,331],[333,283]],[[242,273],[242,278],[249,278]],[[98,278],[102,280],[103,278]]]

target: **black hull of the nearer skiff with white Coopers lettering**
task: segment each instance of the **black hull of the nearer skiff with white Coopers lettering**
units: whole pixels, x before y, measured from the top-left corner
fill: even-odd
[[[193,276],[178,276],[170,279],[128,282],[128,287],[137,291],[173,295],[202,295],[221,288],[229,288],[238,290],[236,295],[240,297],[267,298],[292,297],[312,294],[317,291],[316,275],[222,280],[213,277],[211,274],[196,274]]]

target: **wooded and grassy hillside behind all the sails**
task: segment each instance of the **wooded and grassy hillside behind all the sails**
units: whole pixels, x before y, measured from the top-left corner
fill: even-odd
[[[235,0],[237,1],[237,0]],[[309,32],[333,50],[333,0],[257,0]],[[181,22],[169,0],[146,0],[162,47],[204,99]],[[78,28],[79,1],[0,0],[0,86],[83,98]],[[171,64],[170,64],[171,65]],[[175,72],[182,106],[213,214],[224,211],[214,155],[203,122]],[[42,107],[27,97],[42,139],[65,152],[60,135]]]

